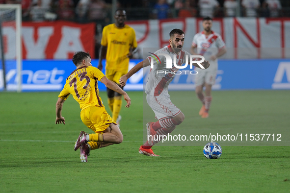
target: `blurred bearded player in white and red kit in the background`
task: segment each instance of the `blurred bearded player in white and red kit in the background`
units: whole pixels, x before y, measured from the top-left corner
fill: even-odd
[[[191,53],[203,55],[205,60],[208,60],[211,64],[211,67],[206,71],[196,69],[198,73],[195,76],[195,93],[203,104],[199,115],[202,118],[208,118],[212,99],[211,86],[215,83],[218,68],[217,58],[225,54],[227,49],[221,36],[211,30],[212,19],[210,17],[205,17],[202,25],[204,30],[193,37]],[[205,95],[203,87],[206,87]]]

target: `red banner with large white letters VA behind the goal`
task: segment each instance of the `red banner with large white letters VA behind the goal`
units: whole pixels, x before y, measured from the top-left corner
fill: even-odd
[[[23,22],[22,26],[23,59],[71,59],[76,51],[95,57],[95,23]]]

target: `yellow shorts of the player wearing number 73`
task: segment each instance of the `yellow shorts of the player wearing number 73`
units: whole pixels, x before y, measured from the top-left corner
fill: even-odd
[[[80,111],[81,121],[95,133],[103,133],[115,121],[106,112],[105,107],[90,106]]]

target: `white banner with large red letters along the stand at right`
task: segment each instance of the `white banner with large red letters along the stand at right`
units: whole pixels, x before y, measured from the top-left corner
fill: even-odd
[[[203,30],[202,18],[130,21],[127,24],[134,28],[139,48],[167,46],[169,32],[174,28],[185,32],[184,48],[190,48],[193,36]],[[249,48],[248,52],[228,49],[224,58],[290,58],[288,49],[283,49],[290,48],[290,18],[215,18],[212,30],[221,35],[227,48]]]

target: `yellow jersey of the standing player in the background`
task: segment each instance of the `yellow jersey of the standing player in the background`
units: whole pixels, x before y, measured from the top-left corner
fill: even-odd
[[[137,48],[135,31],[129,25],[118,28],[115,24],[106,25],[103,29],[102,46],[107,47],[106,70],[127,70],[129,68],[130,47]]]

